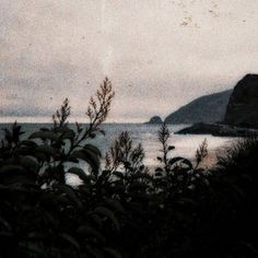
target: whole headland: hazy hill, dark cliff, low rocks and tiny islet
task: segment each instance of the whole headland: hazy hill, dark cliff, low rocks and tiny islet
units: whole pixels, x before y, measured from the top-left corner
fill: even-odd
[[[165,122],[194,124],[178,133],[258,136],[258,74],[246,74],[233,90],[196,98],[168,115]]]

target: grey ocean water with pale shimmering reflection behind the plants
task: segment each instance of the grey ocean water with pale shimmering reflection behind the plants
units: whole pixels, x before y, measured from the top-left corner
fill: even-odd
[[[0,128],[10,127],[11,124],[0,124]],[[21,124],[22,129],[26,132],[23,137],[39,130],[43,127],[50,127],[50,124]],[[74,126],[71,124],[71,126]],[[172,156],[184,156],[189,160],[195,159],[195,153],[201,142],[207,139],[208,152],[213,154],[220,151],[221,148],[230,145],[235,138],[228,137],[213,137],[210,134],[174,134],[174,132],[183,129],[189,125],[168,125],[171,131],[169,144],[175,146],[175,150],[171,153]],[[159,125],[149,124],[104,124],[102,129],[105,131],[105,136],[98,134],[95,139],[91,140],[94,143],[103,156],[105,156],[106,151],[112,145],[114,140],[122,131],[128,131],[134,144],[141,143],[144,152],[144,164],[146,166],[157,165],[156,156],[160,153],[161,144],[157,140]],[[3,132],[0,132],[0,138],[2,138]]]

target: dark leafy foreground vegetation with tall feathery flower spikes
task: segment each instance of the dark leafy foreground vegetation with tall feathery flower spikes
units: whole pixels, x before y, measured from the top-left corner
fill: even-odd
[[[106,154],[87,140],[103,133],[114,97],[106,79],[86,112],[90,126],[68,125],[66,99],[52,119],[21,140],[14,124],[0,146],[0,257],[257,257],[258,141],[227,150],[212,171],[172,157],[159,131],[160,166],[122,132]],[[79,162],[87,163],[83,171]],[[68,174],[81,184],[66,184]]]

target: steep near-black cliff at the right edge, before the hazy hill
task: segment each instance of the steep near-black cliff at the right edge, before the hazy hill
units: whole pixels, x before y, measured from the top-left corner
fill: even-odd
[[[236,84],[224,122],[258,128],[258,74],[247,74]]]

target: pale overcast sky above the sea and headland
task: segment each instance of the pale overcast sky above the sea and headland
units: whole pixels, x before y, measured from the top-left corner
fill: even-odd
[[[257,0],[0,0],[1,120],[50,117],[66,96],[82,117],[105,75],[108,121],[164,118],[250,72]]]

